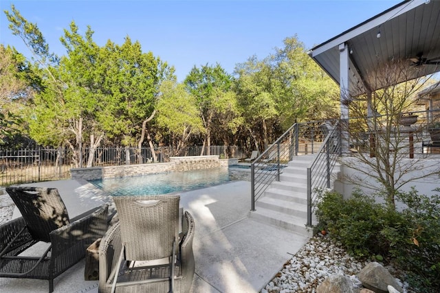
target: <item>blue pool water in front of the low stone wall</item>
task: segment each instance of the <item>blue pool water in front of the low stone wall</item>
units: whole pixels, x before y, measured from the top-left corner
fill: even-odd
[[[112,196],[144,196],[188,191],[227,183],[230,180],[227,168],[217,168],[167,172],[146,176],[105,178],[91,180],[90,183]]]

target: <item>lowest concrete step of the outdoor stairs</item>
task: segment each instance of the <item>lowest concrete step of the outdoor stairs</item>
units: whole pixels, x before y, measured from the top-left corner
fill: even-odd
[[[313,237],[313,230],[305,226],[307,223],[306,218],[298,218],[292,215],[287,215],[286,213],[265,209],[263,207],[256,209],[256,211],[250,211],[249,217],[266,224],[271,224],[289,231],[293,231],[294,233],[298,233],[300,235]]]

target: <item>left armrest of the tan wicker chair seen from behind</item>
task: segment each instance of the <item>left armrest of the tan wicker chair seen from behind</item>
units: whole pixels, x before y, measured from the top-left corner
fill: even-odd
[[[100,292],[107,292],[104,290],[106,286],[111,288],[111,280],[109,277],[111,276],[113,270],[115,270],[121,249],[122,240],[120,233],[120,222],[116,222],[104,235],[99,246]]]

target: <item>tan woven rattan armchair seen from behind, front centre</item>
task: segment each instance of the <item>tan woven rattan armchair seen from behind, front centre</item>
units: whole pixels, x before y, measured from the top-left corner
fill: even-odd
[[[120,222],[100,244],[98,292],[189,292],[194,220],[186,211],[179,233],[179,196],[113,200]]]

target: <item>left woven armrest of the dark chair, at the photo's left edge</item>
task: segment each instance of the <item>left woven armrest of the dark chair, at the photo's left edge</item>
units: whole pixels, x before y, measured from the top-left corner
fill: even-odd
[[[0,225],[0,253],[2,253],[2,255],[18,255],[35,243],[25,226],[26,224],[23,217],[15,218]],[[14,239],[23,228],[25,228],[24,231],[15,239],[14,244],[5,250],[12,239]]]

